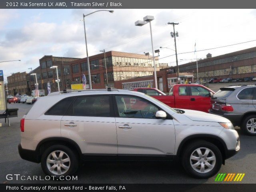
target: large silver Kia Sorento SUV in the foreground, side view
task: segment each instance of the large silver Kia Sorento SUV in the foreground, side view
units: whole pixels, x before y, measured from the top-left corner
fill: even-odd
[[[74,174],[80,160],[179,158],[189,174],[208,178],[240,149],[228,119],[128,90],[52,93],[32,106],[20,129],[20,156],[53,176]]]

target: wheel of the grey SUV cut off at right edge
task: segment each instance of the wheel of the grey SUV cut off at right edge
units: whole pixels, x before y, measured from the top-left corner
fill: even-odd
[[[250,136],[256,136],[256,115],[246,117],[242,123],[242,131]]]

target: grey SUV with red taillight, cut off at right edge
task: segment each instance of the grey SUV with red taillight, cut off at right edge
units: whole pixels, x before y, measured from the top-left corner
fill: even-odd
[[[256,85],[220,88],[211,98],[211,114],[228,118],[244,133],[256,136]]]

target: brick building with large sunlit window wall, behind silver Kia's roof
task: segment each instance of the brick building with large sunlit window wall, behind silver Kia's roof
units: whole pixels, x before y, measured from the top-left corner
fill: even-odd
[[[152,56],[116,51],[109,51],[105,54],[109,87],[114,87],[116,81],[150,76],[154,72]],[[90,56],[89,61],[92,88],[105,88],[107,84],[104,53]],[[80,83],[82,74],[84,74],[88,84],[87,58],[72,61],[70,64],[72,67],[72,83]],[[158,57],[156,57],[156,70],[160,70]]]

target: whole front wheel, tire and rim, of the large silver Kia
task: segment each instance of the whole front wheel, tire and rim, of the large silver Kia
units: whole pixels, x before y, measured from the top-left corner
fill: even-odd
[[[206,141],[190,143],[184,150],[182,165],[186,172],[196,178],[214,176],[221,167],[222,154],[218,147]]]

